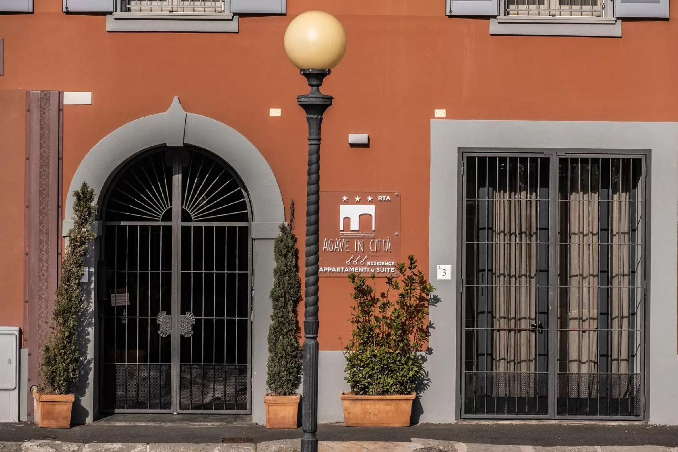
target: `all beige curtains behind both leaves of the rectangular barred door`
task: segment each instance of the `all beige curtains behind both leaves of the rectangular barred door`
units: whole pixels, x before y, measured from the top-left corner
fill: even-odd
[[[593,162],[600,165],[604,160],[580,159],[579,165],[584,162],[589,165],[586,171],[592,171]],[[620,162],[619,159],[616,161]],[[633,281],[631,274],[641,274],[641,245],[632,244],[631,237],[634,229],[637,237],[641,237],[642,209],[639,201],[631,201],[630,187],[635,182],[626,181],[620,185],[619,181],[626,176],[620,167],[613,165],[616,172],[610,176],[613,179],[610,200],[599,199],[600,182],[595,178],[599,178],[600,171],[586,172],[584,176],[581,172],[578,174],[578,178],[589,180],[591,187],[584,184],[581,188],[580,180],[573,184],[579,188],[561,190],[565,199],[559,200],[557,209],[559,268],[549,269],[559,275],[557,306],[553,307],[558,312],[557,359],[559,374],[567,375],[566,379],[559,379],[559,396],[597,397],[599,384],[609,385],[613,397],[624,396],[628,390],[624,384],[610,384],[612,380],[607,376],[601,380],[591,374],[601,372],[601,355],[609,356],[605,358],[610,363],[607,373],[628,373],[631,359],[638,356],[639,333],[631,342],[631,331],[638,328],[631,325],[631,305],[640,304],[640,283]],[[640,188],[636,190],[640,197]],[[499,397],[535,396],[534,375],[529,373],[537,371],[537,333],[532,327],[536,324],[537,305],[536,193],[507,188],[496,190],[493,199],[492,371],[495,374],[492,394]],[[609,243],[600,242],[603,202],[608,203],[603,224],[609,224]],[[551,231],[553,233],[555,231]],[[601,256],[601,249],[605,255]],[[636,258],[632,262],[633,255]],[[607,260],[609,266],[611,288],[606,297],[609,325],[599,323],[601,258]],[[639,320],[637,316],[635,323]],[[608,329],[611,330],[609,333]],[[608,350],[599,350],[601,334],[608,337]]]

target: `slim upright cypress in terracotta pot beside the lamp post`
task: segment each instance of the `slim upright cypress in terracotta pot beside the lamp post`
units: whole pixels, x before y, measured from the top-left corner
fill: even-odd
[[[301,382],[302,350],[297,306],[301,300],[299,249],[294,235],[294,201],[290,203],[290,222],[280,225],[273,245],[275,268],[271,301],[273,314],[268,327],[268,363],[266,363],[266,428],[297,428]]]

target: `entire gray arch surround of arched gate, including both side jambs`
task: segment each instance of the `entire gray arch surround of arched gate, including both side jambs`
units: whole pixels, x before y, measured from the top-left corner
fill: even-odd
[[[144,150],[157,146],[190,145],[203,148],[223,159],[238,174],[250,197],[252,208],[252,419],[264,423],[266,392],[266,336],[271,319],[271,300],[268,293],[273,286],[273,239],[278,226],[285,221],[285,206],[275,176],[266,159],[247,138],[232,127],[214,119],[186,113],[179,99],[164,113],[150,115],[129,122],[109,133],[81,161],[66,198],[64,236],[68,234],[73,217],[73,190],[83,182],[94,188],[96,202],[102,204],[108,184],[121,167]],[[100,222],[93,225],[102,232]],[[92,422],[98,416],[98,354],[97,298],[100,290],[96,284],[99,243],[97,239],[85,260],[89,268],[89,282],[83,284],[87,306],[82,322],[81,355],[87,363],[76,388],[73,407],[75,424]]]

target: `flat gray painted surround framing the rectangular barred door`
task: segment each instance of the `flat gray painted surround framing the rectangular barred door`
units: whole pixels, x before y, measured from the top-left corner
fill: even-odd
[[[431,121],[430,268],[451,264],[451,281],[433,281],[440,298],[431,308],[426,368],[431,386],[422,396],[422,422],[453,422],[458,417],[456,350],[457,192],[460,148],[574,148],[650,150],[650,287],[646,332],[650,379],[649,422],[678,425],[676,354],[676,274],[678,237],[678,123],[583,121]]]

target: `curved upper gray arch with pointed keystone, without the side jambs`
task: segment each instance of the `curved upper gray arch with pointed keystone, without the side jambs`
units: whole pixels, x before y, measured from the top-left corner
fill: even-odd
[[[253,235],[256,230],[258,237],[255,238],[275,237],[277,224],[285,221],[285,206],[264,156],[232,127],[202,115],[186,113],[176,97],[166,112],[142,117],[115,129],[87,152],[71,180],[64,218],[71,220],[73,217],[73,197],[70,195],[83,182],[94,188],[96,201],[100,203],[101,194],[115,170],[134,155],[156,146],[184,144],[214,152],[231,165],[250,194]],[[66,227],[64,233],[67,231]],[[260,237],[261,234],[270,235],[266,232],[273,232],[273,237]]]

